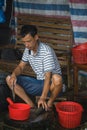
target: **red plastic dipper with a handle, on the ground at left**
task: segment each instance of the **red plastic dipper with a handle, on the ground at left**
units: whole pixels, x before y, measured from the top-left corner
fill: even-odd
[[[23,121],[30,117],[30,105],[25,103],[14,103],[9,97],[8,101],[9,117],[13,120]]]

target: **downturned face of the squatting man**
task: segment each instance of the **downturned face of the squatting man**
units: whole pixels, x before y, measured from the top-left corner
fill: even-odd
[[[25,47],[29,50],[34,50],[37,44],[38,36],[35,35],[32,37],[30,34],[27,34],[25,37],[22,38],[22,42],[24,43]]]

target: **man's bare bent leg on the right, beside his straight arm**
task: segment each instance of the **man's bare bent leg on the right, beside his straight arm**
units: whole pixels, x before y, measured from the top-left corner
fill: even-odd
[[[54,74],[52,76],[52,83],[50,87],[50,98],[48,100],[48,107],[51,107],[53,105],[54,100],[56,97],[58,97],[58,94],[61,92],[62,89],[62,76]]]

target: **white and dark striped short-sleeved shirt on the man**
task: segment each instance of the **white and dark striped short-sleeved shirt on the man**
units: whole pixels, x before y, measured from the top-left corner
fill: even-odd
[[[29,54],[29,49],[25,48],[22,61],[29,62],[32,69],[37,75],[37,79],[45,79],[46,72],[61,75],[61,68],[54,50],[45,43],[39,43],[37,53],[34,55],[33,51]]]

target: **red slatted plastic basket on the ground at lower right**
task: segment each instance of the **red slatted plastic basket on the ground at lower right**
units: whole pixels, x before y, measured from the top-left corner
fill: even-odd
[[[83,107],[72,101],[63,101],[56,104],[58,121],[64,128],[76,128],[80,125]]]

